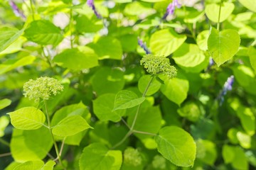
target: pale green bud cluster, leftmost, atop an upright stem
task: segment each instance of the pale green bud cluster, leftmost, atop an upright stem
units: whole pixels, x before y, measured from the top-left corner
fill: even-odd
[[[56,95],[60,91],[63,91],[64,86],[60,84],[60,81],[50,77],[39,77],[36,80],[30,79],[23,85],[23,95],[28,97],[29,100],[35,100],[35,102],[42,100],[48,100],[51,95]]]

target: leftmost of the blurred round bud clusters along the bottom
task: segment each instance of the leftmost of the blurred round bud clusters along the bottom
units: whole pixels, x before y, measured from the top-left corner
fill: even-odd
[[[133,166],[139,166],[142,164],[142,156],[139,154],[137,149],[128,147],[124,151],[124,163]]]

